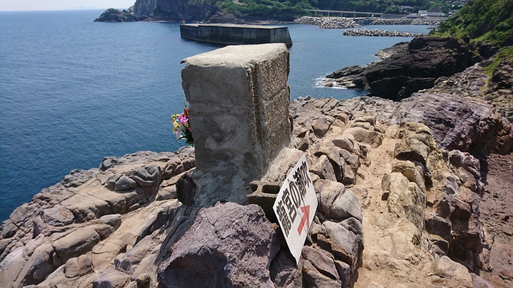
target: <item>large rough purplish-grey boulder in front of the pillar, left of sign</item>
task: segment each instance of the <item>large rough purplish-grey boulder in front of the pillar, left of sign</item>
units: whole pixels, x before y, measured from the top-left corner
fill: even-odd
[[[276,234],[258,205],[218,203],[201,209],[172,246],[159,267],[159,282],[175,288],[274,287],[269,265],[278,250]]]

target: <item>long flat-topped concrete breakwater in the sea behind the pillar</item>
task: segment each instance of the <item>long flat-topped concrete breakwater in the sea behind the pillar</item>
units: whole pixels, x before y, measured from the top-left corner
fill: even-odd
[[[182,38],[226,45],[283,43],[292,46],[287,27],[235,24],[182,24]]]

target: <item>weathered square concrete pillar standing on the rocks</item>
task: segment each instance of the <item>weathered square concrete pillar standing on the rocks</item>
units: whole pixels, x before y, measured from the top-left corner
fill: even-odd
[[[249,182],[290,143],[289,52],[284,44],[228,46],[184,62],[194,178],[216,179],[205,183],[212,201],[244,203]]]

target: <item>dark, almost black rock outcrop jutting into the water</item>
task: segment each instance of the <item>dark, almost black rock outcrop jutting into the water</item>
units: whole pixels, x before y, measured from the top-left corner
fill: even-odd
[[[400,100],[435,80],[451,76],[482,60],[456,38],[419,37],[387,49],[386,57],[365,68],[342,69],[328,76],[323,86],[367,89],[370,96]]]

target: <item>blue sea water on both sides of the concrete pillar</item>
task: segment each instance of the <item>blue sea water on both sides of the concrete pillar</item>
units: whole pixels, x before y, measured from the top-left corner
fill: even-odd
[[[180,60],[220,46],[182,39],[174,23],[93,23],[103,11],[0,12],[0,221],[72,169],[103,156],[174,151],[183,109]],[[377,59],[410,38],[343,36],[291,24],[291,98],[350,98],[315,79]],[[426,26],[374,26],[426,33]]]

